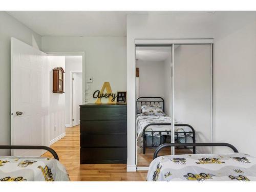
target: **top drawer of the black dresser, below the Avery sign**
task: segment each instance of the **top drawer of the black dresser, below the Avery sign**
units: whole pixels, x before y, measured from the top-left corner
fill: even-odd
[[[126,105],[80,106],[80,120],[126,120]]]

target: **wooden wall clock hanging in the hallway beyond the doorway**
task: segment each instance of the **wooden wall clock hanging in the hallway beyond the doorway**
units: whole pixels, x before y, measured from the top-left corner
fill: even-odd
[[[61,67],[53,69],[53,93],[64,93],[64,70]]]

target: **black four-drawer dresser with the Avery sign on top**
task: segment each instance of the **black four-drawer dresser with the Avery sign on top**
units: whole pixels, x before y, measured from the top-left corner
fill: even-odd
[[[125,104],[80,105],[80,164],[127,163]]]

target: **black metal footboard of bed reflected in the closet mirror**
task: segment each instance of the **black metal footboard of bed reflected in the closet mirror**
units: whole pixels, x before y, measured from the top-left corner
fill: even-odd
[[[143,132],[142,132],[142,147],[143,147],[143,154],[145,154],[145,150],[146,150],[146,133],[151,133],[152,134],[152,137],[153,137],[153,134],[154,133],[159,133],[160,135],[164,132],[164,133],[167,133],[167,135],[169,135],[170,132],[167,132],[167,131],[146,131],[147,127],[148,126],[157,126],[157,125],[172,125],[171,123],[150,123],[150,124],[147,124],[144,129],[143,129]],[[187,135],[189,134],[193,134],[193,143],[196,142],[196,132],[195,132],[195,129],[193,126],[189,125],[189,124],[184,124],[184,123],[177,123],[177,124],[174,124],[174,126],[188,126],[192,132],[175,132],[175,134],[178,136],[178,134],[184,134],[185,136],[185,139],[187,137]],[[186,144],[186,143],[184,143]],[[187,147],[188,145],[184,145],[184,147]],[[193,154],[196,154],[196,146],[193,146]]]

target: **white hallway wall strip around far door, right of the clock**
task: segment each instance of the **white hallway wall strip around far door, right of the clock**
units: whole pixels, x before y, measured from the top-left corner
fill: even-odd
[[[70,117],[70,72],[82,72],[82,56],[65,56],[65,124],[72,126]]]

